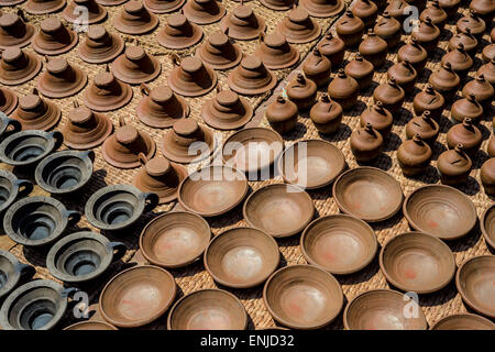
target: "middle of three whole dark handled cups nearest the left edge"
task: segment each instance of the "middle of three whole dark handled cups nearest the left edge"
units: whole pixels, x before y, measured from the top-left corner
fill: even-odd
[[[25,246],[47,245],[56,241],[68,227],[79,222],[77,211],[51,197],[26,197],[6,211],[3,229],[15,243]]]

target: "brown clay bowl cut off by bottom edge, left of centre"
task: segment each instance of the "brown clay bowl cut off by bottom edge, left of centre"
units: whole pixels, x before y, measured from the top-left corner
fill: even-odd
[[[168,330],[245,330],[248,314],[238,297],[221,289],[184,296],[168,314]]]

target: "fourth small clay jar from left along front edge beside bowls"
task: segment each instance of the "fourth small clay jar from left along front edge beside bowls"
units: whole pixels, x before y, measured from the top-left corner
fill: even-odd
[[[406,140],[397,150],[397,161],[406,177],[424,174],[431,162],[431,147],[419,134]]]

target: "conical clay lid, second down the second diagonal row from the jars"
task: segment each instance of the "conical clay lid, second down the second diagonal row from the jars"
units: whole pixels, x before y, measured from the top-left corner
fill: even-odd
[[[220,29],[234,40],[250,41],[264,33],[266,24],[263,16],[256,15],[251,7],[242,3],[222,19]]]

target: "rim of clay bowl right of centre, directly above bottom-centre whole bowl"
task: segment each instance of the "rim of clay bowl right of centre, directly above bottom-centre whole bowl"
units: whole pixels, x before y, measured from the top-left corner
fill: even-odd
[[[317,263],[317,261],[315,261],[312,258],[312,255],[308,252],[307,248],[306,248],[306,240],[308,237],[310,237],[310,230],[312,229],[312,227],[319,222],[327,222],[327,221],[332,221],[332,220],[337,220],[337,219],[349,219],[351,221],[354,222],[359,222],[362,226],[364,226],[369,232],[367,234],[371,234],[371,238],[373,238],[373,248],[369,249],[366,248],[365,250],[369,252],[367,253],[367,257],[363,261],[363,263],[361,263],[360,266],[358,267],[353,267],[351,270],[346,270],[346,271],[333,271],[330,268],[326,268],[322,265],[319,265]],[[366,235],[367,235],[366,234]],[[310,264],[310,265],[315,265],[326,272],[329,272],[330,274],[334,274],[334,275],[348,275],[348,274],[352,274],[352,273],[358,273],[360,271],[362,271],[363,268],[365,268],[367,265],[370,265],[370,263],[375,258],[376,252],[378,251],[378,241],[376,240],[376,235],[375,235],[375,231],[373,230],[373,228],[364,220],[361,220],[356,217],[346,215],[346,213],[333,213],[333,215],[328,215],[328,216],[323,216],[321,218],[315,219],[312,220],[307,227],[306,229],[302,231],[302,234],[300,237],[300,241],[299,241],[299,249],[300,252],[302,253],[302,255],[305,256],[306,261]]]

